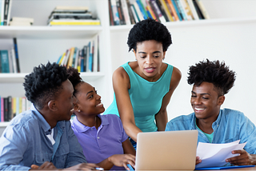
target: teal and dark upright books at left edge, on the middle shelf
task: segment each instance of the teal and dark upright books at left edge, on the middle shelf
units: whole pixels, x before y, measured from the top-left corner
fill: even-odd
[[[16,38],[10,50],[0,50],[0,73],[20,73]]]

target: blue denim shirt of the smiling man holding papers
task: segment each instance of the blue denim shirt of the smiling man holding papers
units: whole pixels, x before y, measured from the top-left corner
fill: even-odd
[[[194,113],[175,117],[166,125],[166,131],[197,129]],[[214,137],[212,143],[222,144],[236,140],[246,143],[247,153],[256,154],[256,127],[242,112],[233,109],[221,109],[218,118],[212,124]],[[210,143],[202,131],[198,130],[198,142]]]

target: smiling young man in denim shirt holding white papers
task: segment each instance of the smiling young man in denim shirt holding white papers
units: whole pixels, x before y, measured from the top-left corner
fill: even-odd
[[[242,113],[233,109],[221,109],[225,94],[233,87],[235,73],[225,62],[208,59],[190,66],[188,83],[193,85],[191,105],[194,113],[182,115],[169,121],[166,131],[198,129],[198,141],[228,143],[241,140],[244,150],[234,150],[237,157],[226,159],[234,165],[256,164],[256,127]],[[197,160],[197,164],[201,162]]]

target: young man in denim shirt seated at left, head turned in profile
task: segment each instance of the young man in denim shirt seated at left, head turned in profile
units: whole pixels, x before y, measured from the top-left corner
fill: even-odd
[[[23,83],[30,110],[10,121],[0,138],[0,170],[95,169],[70,126],[74,89],[66,67],[34,67]]]

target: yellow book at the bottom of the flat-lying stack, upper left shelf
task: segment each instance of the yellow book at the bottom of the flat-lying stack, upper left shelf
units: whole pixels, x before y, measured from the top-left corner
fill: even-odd
[[[53,19],[48,26],[99,26],[100,24],[98,19]]]

